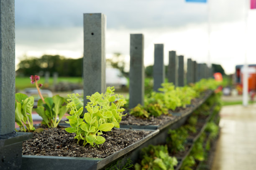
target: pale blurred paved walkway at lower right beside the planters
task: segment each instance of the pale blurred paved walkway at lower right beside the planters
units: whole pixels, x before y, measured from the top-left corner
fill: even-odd
[[[212,170],[256,170],[256,104],[224,106]]]

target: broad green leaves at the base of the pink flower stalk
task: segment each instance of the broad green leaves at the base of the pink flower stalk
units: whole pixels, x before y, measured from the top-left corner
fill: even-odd
[[[42,99],[38,100],[36,112],[43,118],[42,124],[49,128],[56,128],[61,118],[68,111],[66,103],[65,99],[59,95],[46,97],[44,101]]]

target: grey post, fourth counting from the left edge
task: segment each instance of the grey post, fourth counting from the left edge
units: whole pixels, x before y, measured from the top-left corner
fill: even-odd
[[[164,82],[164,70],[164,44],[155,44],[153,68],[154,91],[158,91],[158,89],[161,87],[161,83]]]

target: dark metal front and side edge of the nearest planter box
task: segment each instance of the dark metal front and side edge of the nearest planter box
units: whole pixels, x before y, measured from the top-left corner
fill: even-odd
[[[152,130],[151,130],[152,131]],[[107,158],[78,158],[61,156],[22,155],[23,170],[100,170],[119,159],[131,158],[133,162],[138,159],[139,151],[151,144],[151,139],[159,133],[154,130],[145,138],[108,156]]]

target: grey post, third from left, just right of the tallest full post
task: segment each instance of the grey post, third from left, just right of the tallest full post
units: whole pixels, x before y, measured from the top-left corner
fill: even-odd
[[[129,108],[144,105],[144,36],[130,35]]]

